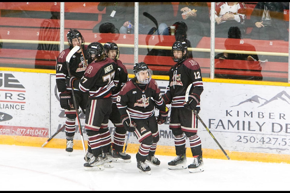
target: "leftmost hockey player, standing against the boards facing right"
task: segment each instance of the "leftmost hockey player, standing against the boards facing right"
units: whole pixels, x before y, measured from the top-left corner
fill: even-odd
[[[81,79],[84,75],[86,64],[88,61],[85,61],[85,57],[82,53],[85,53],[87,46],[85,44],[85,40],[82,34],[78,30],[69,31],[66,34],[66,38],[69,43],[69,48],[60,52],[57,63],[56,63],[56,85],[57,89],[60,92],[60,106],[61,108],[65,109],[66,115],[66,151],[72,152],[73,151],[73,137],[76,131],[76,109],[73,105],[73,98],[72,98],[72,88],[66,84],[66,77],[69,76],[68,68],[66,65],[66,56],[68,55],[69,51],[75,47],[80,46],[79,49],[69,61],[69,70],[72,76],[76,77],[77,79]],[[82,51],[83,50],[83,51]],[[75,100],[77,104],[77,109],[79,107],[85,113],[85,108],[88,102],[88,93],[84,93],[78,89],[74,89]]]

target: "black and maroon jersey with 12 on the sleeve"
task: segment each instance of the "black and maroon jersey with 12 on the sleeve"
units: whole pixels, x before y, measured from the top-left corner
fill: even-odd
[[[177,63],[169,70],[169,85],[166,87],[166,93],[163,95],[167,104],[171,107],[184,107],[185,92],[189,84],[192,83],[190,94],[194,94],[200,99],[203,91],[201,70],[199,64],[192,58],[186,59],[183,63]],[[169,101],[169,102],[168,102]],[[195,110],[200,110],[200,103]]]

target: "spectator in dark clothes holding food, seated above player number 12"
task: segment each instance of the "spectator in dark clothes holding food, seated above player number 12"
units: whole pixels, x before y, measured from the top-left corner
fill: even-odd
[[[182,14],[189,9],[192,11],[188,12],[187,17],[182,17]],[[183,21],[188,26],[188,32],[190,32],[188,36],[210,37],[211,24],[207,2],[179,2],[179,10],[176,16],[177,21]]]

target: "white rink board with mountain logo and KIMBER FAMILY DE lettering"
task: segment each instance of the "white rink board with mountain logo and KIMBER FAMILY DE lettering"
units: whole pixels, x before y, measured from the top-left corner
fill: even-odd
[[[157,82],[164,93],[168,81]],[[199,116],[226,150],[289,154],[290,96],[287,91],[290,93],[289,87],[204,82]],[[111,122],[109,127],[114,129]],[[201,122],[198,128],[202,147],[219,149]],[[159,145],[174,145],[169,121],[159,125],[159,135]],[[133,135],[129,141],[138,143]],[[188,140],[186,143],[189,147]]]

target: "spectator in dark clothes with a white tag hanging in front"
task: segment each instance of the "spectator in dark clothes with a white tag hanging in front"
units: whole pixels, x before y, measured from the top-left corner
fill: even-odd
[[[120,29],[127,15],[127,6],[133,7],[134,10],[134,2],[100,2],[98,10],[103,11],[106,9],[106,13],[102,14],[101,22],[95,25],[93,32],[101,33],[99,32],[99,27],[104,23],[112,23],[117,29]]]

